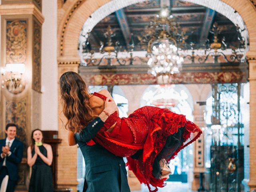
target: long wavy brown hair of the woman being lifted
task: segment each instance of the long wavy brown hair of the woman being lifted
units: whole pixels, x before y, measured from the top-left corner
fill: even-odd
[[[68,119],[67,130],[80,132],[96,116],[89,105],[90,95],[85,82],[76,72],[66,72],[60,77],[60,96],[63,114]]]

